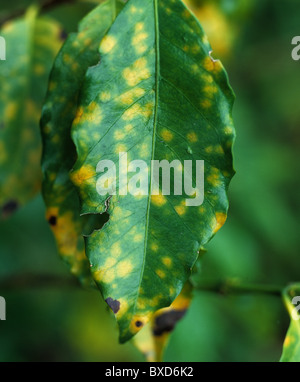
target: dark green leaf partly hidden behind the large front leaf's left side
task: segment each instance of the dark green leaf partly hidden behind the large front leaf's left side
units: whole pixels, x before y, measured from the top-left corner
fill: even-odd
[[[54,233],[59,254],[83,284],[93,285],[84,249],[83,233],[105,217],[80,217],[77,191],[69,179],[76,151],[70,137],[78,94],[89,66],[99,61],[98,47],[122,4],[108,0],[80,23],[78,33],[67,38],[49,80],[41,119],[43,137],[43,197],[46,217]]]

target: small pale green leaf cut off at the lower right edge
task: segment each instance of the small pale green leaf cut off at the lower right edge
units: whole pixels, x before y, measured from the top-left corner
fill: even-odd
[[[281,362],[300,362],[300,284],[290,285],[283,291],[283,300],[291,317],[281,355]]]

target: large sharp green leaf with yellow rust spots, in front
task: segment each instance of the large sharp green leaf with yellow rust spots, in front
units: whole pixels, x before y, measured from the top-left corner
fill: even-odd
[[[181,1],[130,0],[101,42],[100,64],[85,78],[72,126],[78,155],[72,180],[81,213],[109,214],[86,239],[86,252],[121,342],[170,306],[200,247],[226,220],[234,96],[210,50]],[[204,203],[187,207],[186,195],[120,195],[118,186],[116,195],[100,196],[98,162],[117,165],[124,152],[148,169],[151,160],[192,160],[194,168],[204,160]],[[150,191],[150,171],[146,180]]]

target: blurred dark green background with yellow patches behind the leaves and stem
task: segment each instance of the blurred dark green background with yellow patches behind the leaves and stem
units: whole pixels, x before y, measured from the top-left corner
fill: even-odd
[[[186,2],[236,93],[237,174],[229,217],[207,246],[201,277],[276,285],[300,281],[300,63],[291,58],[292,37],[300,35],[300,3]],[[0,20],[12,7],[29,3],[0,1]],[[92,6],[62,4],[46,13],[70,32]],[[118,344],[114,318],[100,294],[72,286],[44,213],[38,195],[0,222],[0,295],[7,302],[0,361],[143,361],[131,344]],[[58,281],[29,288],[18,277],[26,274]],[[278,361],[288,325],[280,297],[197,290],[165,361]]]

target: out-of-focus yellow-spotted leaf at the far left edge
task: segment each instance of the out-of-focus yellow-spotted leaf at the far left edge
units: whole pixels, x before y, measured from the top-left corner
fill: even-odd
[[[3,26],[6,61],[0,61],[0,218],[7,217],[40,190],[39,119],[51,65],[62,41],[60,25],[24,18]]]

